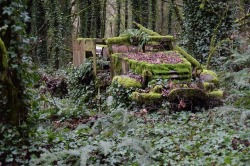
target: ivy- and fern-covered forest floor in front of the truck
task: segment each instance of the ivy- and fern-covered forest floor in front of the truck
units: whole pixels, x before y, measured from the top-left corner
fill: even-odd
[[[29,165],[250,165],[250,112],[230,97],[209,110],[150,112],[41,95]]]

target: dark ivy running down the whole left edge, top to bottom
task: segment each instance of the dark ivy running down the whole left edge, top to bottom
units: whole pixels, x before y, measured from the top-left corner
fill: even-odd
[[[0,164],[27,164],[27,118],[33,98],[31,87],[36,81],[27,55],[30,17],[26,0],[2,0],[0,6],[0,59],[4,62],[0,65]]]

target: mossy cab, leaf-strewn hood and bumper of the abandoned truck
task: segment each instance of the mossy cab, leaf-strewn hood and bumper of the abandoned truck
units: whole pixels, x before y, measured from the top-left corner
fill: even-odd
[[[135,89],[128,94],[139,103],[169,101],[175,109],[209,107],[218,103],[216,73],[205,69],[175,43],[135,23],[119,37],[105,40],[109,48],[112,84]]]

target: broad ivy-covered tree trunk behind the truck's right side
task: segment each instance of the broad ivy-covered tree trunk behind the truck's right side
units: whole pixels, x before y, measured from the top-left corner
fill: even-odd
[[[228,38],[232,30],[232,9],[229,0],[184,0],[185,35],[188,52],[205,62],[211,49]],[[205,1],[206,2],[206,1]],[[226,50],[221,51],[224,55]]]

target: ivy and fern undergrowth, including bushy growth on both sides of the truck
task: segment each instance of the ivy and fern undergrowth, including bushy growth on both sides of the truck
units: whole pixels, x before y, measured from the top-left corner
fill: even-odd
[[[195,113],[135,107],[130,90],[100,89],[89,68],[61,73],[64,96],[41,91],[44,82],[32,91],[20,126],[29,137],[1,126],[0,165],[250,165],[249,66],[221,74],[226,106]]]

